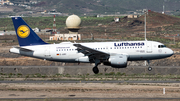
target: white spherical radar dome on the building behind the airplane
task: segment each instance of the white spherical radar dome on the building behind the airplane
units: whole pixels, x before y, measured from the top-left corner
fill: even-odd
[[[79,29],[81,24],[81,19],[77,15],[70,15],[66,19],[66,26],[68,29]]]

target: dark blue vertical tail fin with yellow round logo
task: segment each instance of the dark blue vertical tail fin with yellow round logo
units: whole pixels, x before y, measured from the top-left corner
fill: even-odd
[[[43,45],[45,43],[21,17],[12,17],[20,46]]]

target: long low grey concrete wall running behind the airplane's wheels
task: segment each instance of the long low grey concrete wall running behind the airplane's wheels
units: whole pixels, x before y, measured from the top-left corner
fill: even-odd
[[[120,72],[125,74],[180,74],[180,68],[177,66],[153,66],[152,71],[148,71],[145,66],[130,66],[127,68],[111,68],[108,66],[99,66],[100,73]],[[93,75],[92,66],[0,66],[0,73],[21,73],[22,75],[27,74],[71,74],[71,75]]]

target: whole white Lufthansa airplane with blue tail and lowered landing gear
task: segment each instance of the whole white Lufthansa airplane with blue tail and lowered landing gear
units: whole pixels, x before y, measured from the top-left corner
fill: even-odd
[[[21,17],[12,17],[20,47],[10,52],[34,58],[58,62],[95,63],[93,72],[99,73],[98,65],[125,68],[128,61],[162,59],[173,55],[164,44],[155,41],[117,41],[48,44],[44,42]],[[148,70],[152,68],[149,66]]]

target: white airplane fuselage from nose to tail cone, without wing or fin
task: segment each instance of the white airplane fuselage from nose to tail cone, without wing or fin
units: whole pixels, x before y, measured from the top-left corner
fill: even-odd
[[[59,62],[89,62],[88,57],[78,52],[71,42],[60,44],[34,45],[22,48],[32,52],[20,51],[11,48],[10,52],[40,59]],[[173,55],[173,51],[162,43],[155,41],[119,41],[119,42],[94,42],[80,43],[83,46],[113,54],[127,55],[128,61],[161,59]]]

